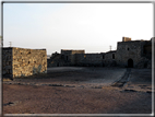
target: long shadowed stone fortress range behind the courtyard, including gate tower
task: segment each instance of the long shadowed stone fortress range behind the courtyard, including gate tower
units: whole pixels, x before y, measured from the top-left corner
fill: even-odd
[[[48,67],[81,66],[81,67],[152,67],[152,39],[131,40],[122,37],[117,50],[100,54],[85,54],[84,50],[64,50],[55,52],[48,59]]]

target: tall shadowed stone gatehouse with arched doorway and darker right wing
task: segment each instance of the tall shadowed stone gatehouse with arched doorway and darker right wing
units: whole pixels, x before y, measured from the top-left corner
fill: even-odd
[[[147,45],[147,48],[145,46]],[[146,52],[144,52],[146,51]],[[150,56],[150,58],[146,57]],[[119,42],[116,51],[117,65],[133,68],[151,68],[152,42],[151,40],[123,40]]]

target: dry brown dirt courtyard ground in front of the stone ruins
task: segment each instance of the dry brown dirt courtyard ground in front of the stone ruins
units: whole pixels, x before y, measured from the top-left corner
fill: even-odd
[[[152,70],[48,68],[47,74],[3,80],[3,114],[151,114]]]

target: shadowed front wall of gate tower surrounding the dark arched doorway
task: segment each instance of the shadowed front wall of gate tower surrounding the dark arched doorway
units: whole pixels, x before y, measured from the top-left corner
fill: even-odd
[[[136,42],[121,42],[118,43],[118,48],[116,51],[117,65],[121,67],[128,66],[128,60],[133,60],[133,67],[142,59],[142,43]]]

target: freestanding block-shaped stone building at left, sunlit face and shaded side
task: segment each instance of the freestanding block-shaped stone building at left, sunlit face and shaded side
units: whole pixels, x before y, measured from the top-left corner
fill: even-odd
[[[3,48],[2,61],[2,73],[9,78],[47,72],[46,49]]]

